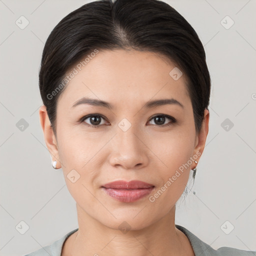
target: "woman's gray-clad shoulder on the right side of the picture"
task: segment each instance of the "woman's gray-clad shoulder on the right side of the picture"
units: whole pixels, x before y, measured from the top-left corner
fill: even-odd
[[[175,226],[187,236],[191,243],[195,256],[256,256],[256,250],[247,251],[231,247],[220,247],[215,250],[210,245],[199,239],[192,232],[187,230],[185,227],[180,225]]]

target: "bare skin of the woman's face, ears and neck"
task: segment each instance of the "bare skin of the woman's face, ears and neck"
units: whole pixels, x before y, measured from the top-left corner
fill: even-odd
[[[203,152],[208,133],[209,111],[205,109],[202,128],[196,134],[185,75],[174,80],[169,75],[173,67],[170,60],[149,51],[100,50],[58,98],[56,136],[45,106],[40,107],[47,148],[76,201],[79,229],[64,243],[62,256],[194,255],[174,219],[175,203],[196,163],[192,161],[154,202],[148,199],[189,157]],[[113,108],[72,107],[83,96],[107,101]],[[163,98],[174,98],[184,107],[142,107],[148,100]],[[106,119],[100,119],[97,128],[89,127],[90,118],[78,122],[87,114],[101,114]],[[167,114],[177,121],[165,118],[162,123],[170,125],[160,127],[152,118],[155,114]],[[118,126],[123,118],[131,124],[126,131]],[[74,183],[67,177],[72,169],[80,175]],[[119,179],[141,180],[155,188],[138,201],[119,202],[100,188]],[[118,228],[123,221],[130,226],[126,233]]]

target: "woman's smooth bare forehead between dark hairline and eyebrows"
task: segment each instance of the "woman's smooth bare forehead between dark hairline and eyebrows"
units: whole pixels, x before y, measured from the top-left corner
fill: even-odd
[[[185,76],[173,79],[175,68],[167,57],[150,51],[99,50],[84,66],[77,63],[69,70],[75,75],[65,85],[58,104],[65,102],[71,107],[83,96],[111,101],[113,105],[163,97],[178,98],[185,103],[188,99]]]

